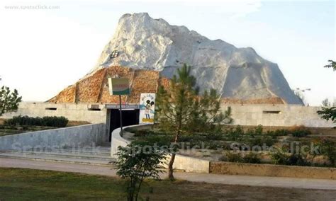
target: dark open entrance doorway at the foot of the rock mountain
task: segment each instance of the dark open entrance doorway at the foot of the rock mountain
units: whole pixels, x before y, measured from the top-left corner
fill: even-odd
[[[123,109],[123,127],[139,124],[139,109]],[[111,142],[111,133],[116,128],[121,127],[120,114],[118,109],[110,110],[110,132],[109,142]]]

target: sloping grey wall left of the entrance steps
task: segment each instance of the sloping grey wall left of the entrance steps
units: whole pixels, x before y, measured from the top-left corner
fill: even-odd
[[[0,137],[0,150],[84,147],[106,141],[105,124],[80,125],[55,130],[26,132]]]

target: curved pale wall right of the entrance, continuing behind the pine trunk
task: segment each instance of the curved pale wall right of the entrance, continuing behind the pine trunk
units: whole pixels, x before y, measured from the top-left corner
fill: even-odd
[[[132,125],[128,127],[137,127],[137,126],[143,126],[143,125]],[[124,127],[124,129],[127,127]],[[111,156],[116,157],[116,152],[118,150],[118,147],[125,147],[127,144],[130,143],[130,141],[123,139],[123,137],[120,136],[121,129],[118,128],[116,130],[113,130],[112,132],[112,139],[111,139]],[[167,161],[169,161],[170,156],[167,157]],[[189,156],[182,156],[177,154],[175,156],[174,161],[174,169],[181,170],[181,171],[187,171],[187,172],[197,172],[197,173],[209,173],[209,166],[210,161],[202,160],[202,159],[196,159]]]

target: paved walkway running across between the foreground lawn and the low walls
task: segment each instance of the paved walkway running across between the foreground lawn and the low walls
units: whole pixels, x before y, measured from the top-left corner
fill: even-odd
[[[6,168],[32,168],[51,171],[65,171],[74,173],[88,173],[101,176],[116,176],[116,170],[108,166],[91,166],[72,163],[31,161],[23,159],[2,159],[0,167]],[[164,178],[167,174],[162,175]],[[308,178],[279,178],[262,176],[228,176],[207,173],[176,172],[178,179],[194,182],[222,183],[228,185],[252,185],[281,188],[306,188],[320,190],[336,190],[336,180],[308,179]]]

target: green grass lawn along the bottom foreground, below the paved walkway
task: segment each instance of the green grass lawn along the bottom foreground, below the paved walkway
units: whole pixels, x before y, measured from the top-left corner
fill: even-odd
[[[125,200],[124,190],[125,185],[120,178],[22,168],[0,168],[1,201]],[[141,195],[143,198],[149,197],[150,200],[286,200],[286,198],[332,200],[336,196],[336,191],[191,183],[181,180],[174,182],[149,180]]]

